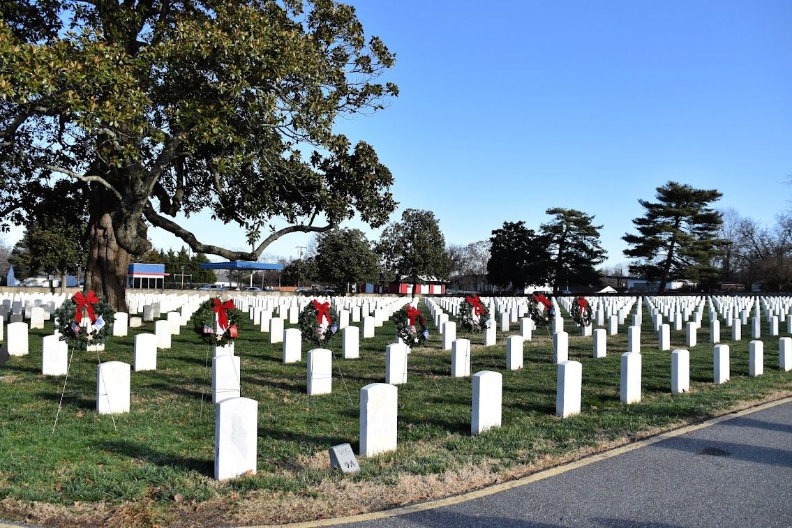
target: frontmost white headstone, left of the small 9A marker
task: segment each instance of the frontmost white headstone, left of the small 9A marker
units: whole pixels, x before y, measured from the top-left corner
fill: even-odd
[[[215,479],[256,473],[258,402],[232,397],[219,402],[215,415]]]

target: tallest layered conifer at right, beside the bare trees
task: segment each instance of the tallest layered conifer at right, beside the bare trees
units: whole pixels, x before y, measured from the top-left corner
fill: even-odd
[[[657,188],[657,202],[639,199],[645,214],[633,220],[638,234],[622,237],[630,245],[624,255],[637,259],[630,264],[630,272],[659,279],[660,293],[669,279],[717,276],[711,263],[722,245],[718,238],[722,219],[710,206],[721,196],[716,189],[669,181]]]

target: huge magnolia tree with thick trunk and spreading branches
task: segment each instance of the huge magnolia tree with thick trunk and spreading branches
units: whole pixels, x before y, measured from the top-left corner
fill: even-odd
[[[56,181],[89,183],[87,286],[116,309],[130,256],[151,247],[148,226],[196,253],[257,260],[284,234],[329,230],[356,212],[380,226],[394,210],[375,150],[333,131],[338,116],[382,108],[398,91],[377,82],[394,55],[366,38],[352,7],[6,0],[0,9],[0,222],[25,223]],[[204,244],[174,220],[202,210],[245,230],[253,249]]]

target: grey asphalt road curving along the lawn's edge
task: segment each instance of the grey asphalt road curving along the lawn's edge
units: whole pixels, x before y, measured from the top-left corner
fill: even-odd
[[[792,526],[792,402],[490,496],[339,526]]]

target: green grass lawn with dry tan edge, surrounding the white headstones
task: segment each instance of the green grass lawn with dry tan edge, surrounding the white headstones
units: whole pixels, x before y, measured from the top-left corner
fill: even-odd
[[[361,471],[352,476],[330,471],[327,450],[348,442],[357,452],[360,388],[384,381],[394,325],[361,338],[360,359],[341,359],[340,335],[333,340],[333,393],[309,397],[310,346],[303,343],[301,363],[284,365],[281,345],[269,344],[268,334],[241,317],[235,353],[242,359],[242,396],[259,402],[258,473],[223,484],[212,478],[211,351],[192,326],[160,351],[158,370],[132,372],[131,412],[116,415],[115,428],[110,416],[93,410],[96,352],[75,353],[55,432],[63,377],[40,374],[41,338],[51,329],[32,330],[29,355],[0,369],[0,517],[51,526],[219,526],[349,515],[519,477],[792,394],[792,372],[779,371],[778,338],[768,336],[766,322],[765,372],[758,378],[748,377],[750,325],[743,326],[743,340],[732,342],[722,323],[731,380],[715,386],[705,314],[699,346],[690,349],[691,392],[672,396],[671,353],[657,350],[644,310],[643,399],[623,405],[619,355],[626,351],[626,325],[608,337],[607,358],[592,359],[592,338],[580,337],[565,315],[569,359],[583,363],[580,416],[553,416],[556,366],[547,329],[535,330],[524,346],[524,368],[516,371],[505,370],[505,339],[519,333],[519,324],[499,332],[488,348],[480,345],[482,336],[458,332],[474,343],[471,373],[503,374],[503,427],[471,437],[470,378],[450,378],[451,352],[441,349],[432,328],[427,346],[409,355],[408,381],[398,388],[398,450],[360,459]],[[131,363],[135,332],[154,332],[154,325],[110,338],[102,361]],[[671,344],[684,348],[684,331],[672,330]]]

